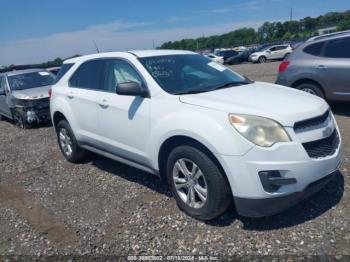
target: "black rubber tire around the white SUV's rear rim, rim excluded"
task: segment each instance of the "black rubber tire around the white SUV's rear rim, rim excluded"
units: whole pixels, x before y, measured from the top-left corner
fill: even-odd
[[[67,153],[64,146],[60,142],[61,131],[66,130],[66,134],[70,138],[71,153]],[[74,136],[74,133],[66,120],[61,120],[56,126],[57,142],[61,149],[63,156],[71,163],[80,163],[86,157],[86,151],[79,147],[78,142]]]

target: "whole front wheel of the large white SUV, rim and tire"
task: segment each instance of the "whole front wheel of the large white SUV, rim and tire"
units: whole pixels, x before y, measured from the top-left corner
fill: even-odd
[[[224,175],[207,154],[195,147],[184,145],[172,150],[167,180],[179,208],[194,218],[213,219],[231,203]]]

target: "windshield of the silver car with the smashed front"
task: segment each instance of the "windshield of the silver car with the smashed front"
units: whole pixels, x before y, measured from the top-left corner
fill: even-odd
[[[11,90],[23,90],[53,85],[55,76],[47,71],[38,71],[8,77]]]

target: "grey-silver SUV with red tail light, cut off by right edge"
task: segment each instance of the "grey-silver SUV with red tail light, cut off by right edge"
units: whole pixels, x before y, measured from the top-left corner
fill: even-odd
[[[300,45],[279,66],[276,83],[326,100],[350,101],[350,31]]]

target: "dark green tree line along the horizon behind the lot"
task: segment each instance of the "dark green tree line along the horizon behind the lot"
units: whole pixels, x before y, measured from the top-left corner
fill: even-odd
[[[336,27],[335,31],[350,29],[350,10],[331,12],[316,18],[305,17],[298,21],[265,22],[258,30],[241,28],[222,35],[169,41],[159,48],[195,51],[276,41],[302,40],[318,35],[318,29],[333,26]]]

